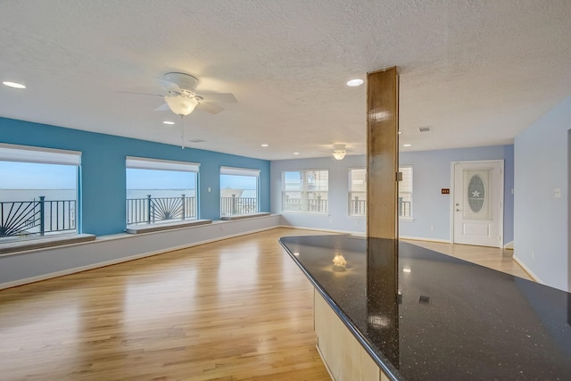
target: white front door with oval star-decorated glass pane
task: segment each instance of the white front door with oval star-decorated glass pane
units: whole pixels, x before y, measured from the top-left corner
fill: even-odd
[[[503,161],[454,162],[454,244],[503,246]]]

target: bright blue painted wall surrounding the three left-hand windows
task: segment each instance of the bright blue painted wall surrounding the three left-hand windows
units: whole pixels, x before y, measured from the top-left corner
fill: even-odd
[[[260,211],[269,211],[268,161],[4,118],[0,118],[0,142],[82,152],[83,233],[103,236],[124,231],[125,156],[201,163],[198,192],[202,219],[219,219],[220,166],[261,170]]]

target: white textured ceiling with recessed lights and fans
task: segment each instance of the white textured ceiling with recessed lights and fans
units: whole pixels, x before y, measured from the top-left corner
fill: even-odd
[[[160,97],[119,91],[182,71],[238,100],[187,116],[189,147],[364,154],[366,85],[345,82],[395,65],[402,151],[512,143],[571,95],[571,1],[0,0],[0,81],[28,87],[0,86],[6,118],[179,145]]]

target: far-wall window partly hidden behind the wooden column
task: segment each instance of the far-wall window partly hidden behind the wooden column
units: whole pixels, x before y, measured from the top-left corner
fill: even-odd
[[[399,167],[399,217],[412,218],[412,166]],[[364,216],[367,213],[367,170],[349,170],[349,215]]]

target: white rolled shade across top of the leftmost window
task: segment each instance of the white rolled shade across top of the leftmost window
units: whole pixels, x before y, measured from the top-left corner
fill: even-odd
[[[0,143],[0,161],[79,166],[81,165],[81,152]]]

